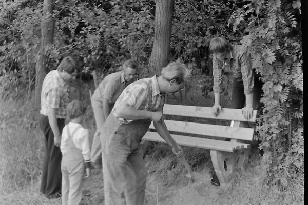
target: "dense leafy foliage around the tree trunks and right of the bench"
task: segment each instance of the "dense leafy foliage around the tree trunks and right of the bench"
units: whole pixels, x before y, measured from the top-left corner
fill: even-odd
[[[0,94],[31,93],[40,46],[40,1],[0,2]],[[210,91],[208,43],[223,35],[251,48],[253,66],[264,82],[263,115],[257,127],[268,179],[285,188],[303,174],[303,79],[299,0],[177,0],[170,60],[181,58],[204,75]],[[48,68],[63,56],[78,58],[84,73],[110,73],[125,58],[146,66],[154,33],[155,2],[55,1],[54,44]],[[143,71],[146,73],[146,71]],[[144,77],[146,74],[142,74]]]

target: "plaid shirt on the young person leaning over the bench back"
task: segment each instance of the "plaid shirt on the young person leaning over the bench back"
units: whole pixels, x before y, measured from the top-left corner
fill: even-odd
[[[214,76],[214,92],[221,93],[222,89],[222,70],[231,71],[238,81],[243,81],[244,94],[252,94],[254,92],[254,73],[251,64],[251,58],[247,54],[245,47],[236,45],[231,51],[230,61],[224,64],[223,60],[218,60],[213,55],[213,76]]]

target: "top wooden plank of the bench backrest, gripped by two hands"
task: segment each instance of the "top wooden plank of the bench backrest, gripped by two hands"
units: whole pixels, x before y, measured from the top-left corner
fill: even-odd
[[[257,110],[253,111],[253,116],[249,120],[244,118],[241,109],[223,108],[219,112],[217,117],[214,117],[211,113],[211,107],[198,107],[198,106],[183,106],[183,105],[164,105],[164,114],[166,115],[178,115],[188,117],[201,117],[209,119],[224,119],[224,120],[236,120],[236,121],[249,121],[255,122],[257,117]]]

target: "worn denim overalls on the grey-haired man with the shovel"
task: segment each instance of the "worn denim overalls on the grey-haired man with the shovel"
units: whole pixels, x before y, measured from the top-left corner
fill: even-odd
[[[145,83],[150,89],[146,81]],[[149,108],[152,92],[149,92]],[[110,113],[101,129],[105,204],[143,205],[147,169],[143,160],[140,141],[151,120],[133,120],[124,123]]]

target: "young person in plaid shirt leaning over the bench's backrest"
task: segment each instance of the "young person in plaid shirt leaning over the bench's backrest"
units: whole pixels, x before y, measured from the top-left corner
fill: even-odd
[[[242,109],[246,119],[252,117],[253,110],[262,111],[260,98],[263,93],[262,81],[252,68],[251,58],[247,53],[247,48],[236,45],[232,46],[222,37],[215,37],[210,40],[209,52],[213,54],[213,76],[214,76],[214,106],[212,113],[219,114],[222,107],[220,105],[220,93],[222,89],[222,71],[233,74],[233,88],[230,108]],[[243,127],[249,125],[243,124]],[[214,174],[211,180],[215,185],[220,185]]]

